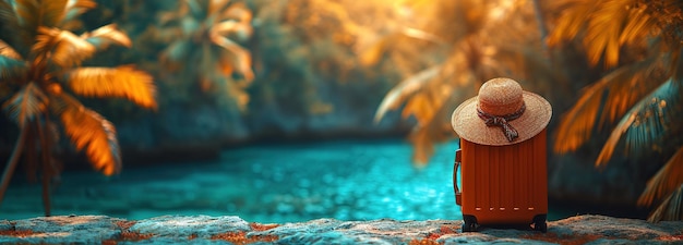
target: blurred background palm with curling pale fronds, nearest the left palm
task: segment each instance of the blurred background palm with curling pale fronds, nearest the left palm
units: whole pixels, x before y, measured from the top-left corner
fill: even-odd
[[[160,60],[173,71],[182,68],[187,73],[180,78],[196,81],[203,93],[223,91],[219,95],[227,95],[228,102],[244,110],[249,102],[244,89],[254,74],[251,53],[239,42],[252,35],[251,11],[230,0],[188,0],[159,19],[158,38],[170,42]]]

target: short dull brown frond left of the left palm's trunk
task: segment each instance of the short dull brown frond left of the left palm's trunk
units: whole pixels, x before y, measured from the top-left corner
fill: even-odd
[[[47,108],[47,97],[35,83],[28,83],[2,105],[10,119],[20,127],[35,120]]]

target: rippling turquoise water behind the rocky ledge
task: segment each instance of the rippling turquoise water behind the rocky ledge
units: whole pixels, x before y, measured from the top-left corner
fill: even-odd
[[[71,171],[52,192],[52,215],[240,216],[278,223],[457,220],[462,213],[452,182],[456,148],[455,142],[436,146],[423,169],[410,163],[410,145],[395,139],[254,145],[225,150],[214,161],[125,166],[112,179]],[[39,185],[14,181],[0,219],[41,215]]]

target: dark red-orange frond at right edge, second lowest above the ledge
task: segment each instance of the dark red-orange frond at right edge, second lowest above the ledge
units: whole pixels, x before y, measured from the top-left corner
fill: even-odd
[[[679,147],[667,164],[647,182],[645,191],[638,198],[638,205],[650,206],[652,201],[673,193],[681,184],[683,184],[683,147]]]

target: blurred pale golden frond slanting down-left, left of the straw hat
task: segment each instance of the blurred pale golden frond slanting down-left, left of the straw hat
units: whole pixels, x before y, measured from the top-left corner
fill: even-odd
[[[380,103],[374,114],[374,122],[380,122],[387,111],[397,109],[408,97],[422,89],[424,84],[429,83],[441,72],[441,65],[435,65],[398,83],[382,99],[382,103]]]

